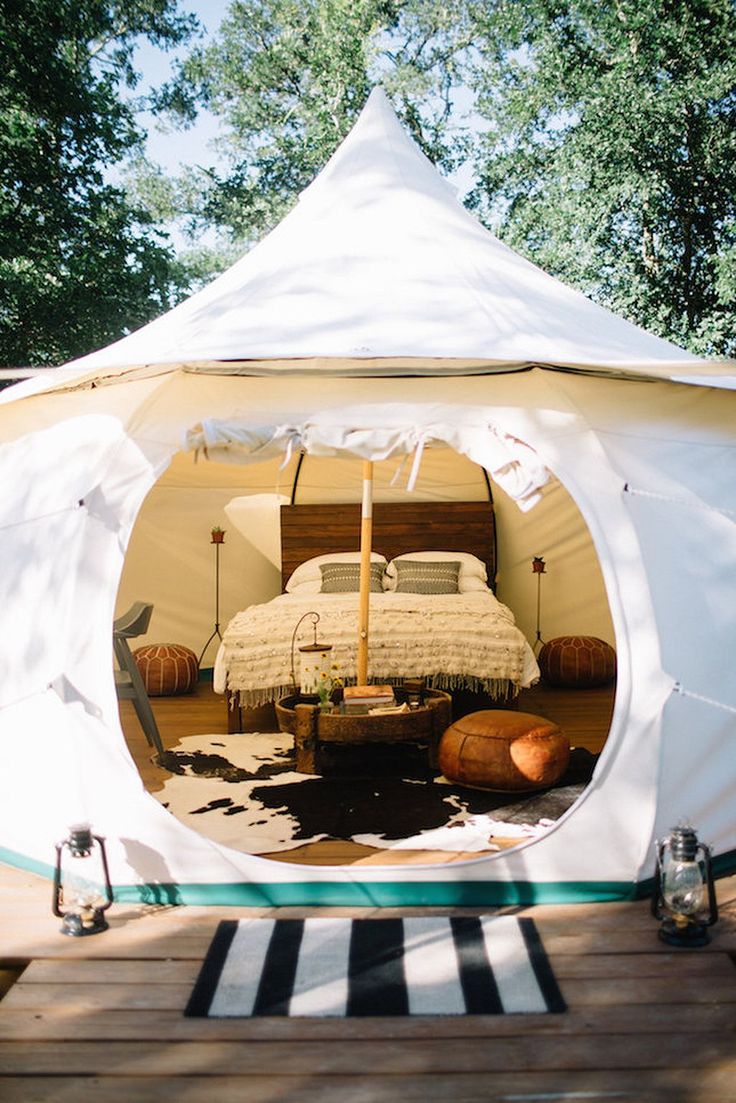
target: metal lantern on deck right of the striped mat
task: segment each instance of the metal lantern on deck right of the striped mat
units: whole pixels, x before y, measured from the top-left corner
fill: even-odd
[[[652,914],[662,920],[660,939],[673,946],[706,945],[707,928],[718,918],[711,850],[687,825],[673,827],[655,847]]]

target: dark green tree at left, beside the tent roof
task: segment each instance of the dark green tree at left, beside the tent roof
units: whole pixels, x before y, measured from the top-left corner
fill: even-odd
[[[178,0],[0,0],[0,363],[53,364],[181,293],[166,235],[105,172],[140,141],[134,47],[185,41]]]

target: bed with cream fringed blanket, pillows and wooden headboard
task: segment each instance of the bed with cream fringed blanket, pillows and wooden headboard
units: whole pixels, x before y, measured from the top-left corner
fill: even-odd
[[[215,661],[231,731],[243,730],[245,710],[294,692],[291,640],[308,612],[319,613],[319,638],[332,644],[330,676],[355,679],[360,553],[346,549],[359,533],[359,505],[282,506],[284,592],[236,613]],[[422,678],[503,704],[536,681],[534,654],[493,592],[491,502],[376,504],[372,546],[371,682]],[[311,632],[307,618],[297,650]]]

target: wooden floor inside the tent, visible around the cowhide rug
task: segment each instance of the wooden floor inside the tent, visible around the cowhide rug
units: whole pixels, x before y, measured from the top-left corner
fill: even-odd
[[[177,747],[182,736],[222,733],[226,738],[227,714],[224,698],[215,694],[207,682],[200,682],[193,694],[153,697],[151,706],[167,750]],[[602,749],[610,728],[614,688],[559,689],[540,684],[522,692],[519,708],[554,720],[567,733],[572,747],[583,747],[597,753]],[[150,793],[156,793],[169,774],[152,761],[152,751],[131,702],[120,703],[120,719],[143,783]],[[247,730],[276,730],[273,709],[255,710],[250,720]],[[505,847],[526,840],[500,838],[494,842]],[[448,850],[387,850],[362,846],[350,839],[324,839],[263,857],[307,865],[433,865],[462,861],[478,855]]]

